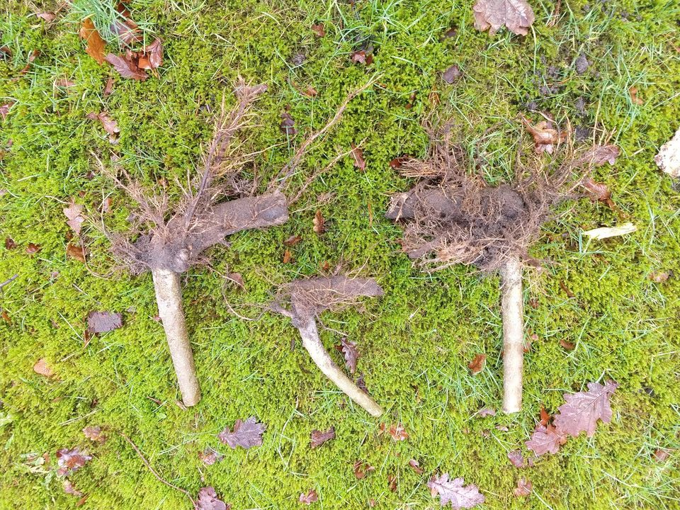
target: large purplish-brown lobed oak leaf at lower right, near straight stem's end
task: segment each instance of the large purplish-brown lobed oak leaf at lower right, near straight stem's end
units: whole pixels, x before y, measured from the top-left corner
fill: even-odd
[[[565,393],[566,404],[562,404],[555,415],[555,428],[571,436],[578,436],[585,431],[588,437],[595,433],[597,421],[611,421],[611,405],[609,399],[618,387],[618,383],[608,381],[604,385],[589,382],[588,391]]]

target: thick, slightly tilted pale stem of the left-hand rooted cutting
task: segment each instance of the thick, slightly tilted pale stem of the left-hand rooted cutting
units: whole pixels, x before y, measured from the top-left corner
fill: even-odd
[[[191,342],[184,322],[180,274],[164,269],[154,269],[152,274],[158,314],[165,329],[182,402],[186,407],[191,407],[200,400],[200,387],[196,377],[196,366],[193,364]]]

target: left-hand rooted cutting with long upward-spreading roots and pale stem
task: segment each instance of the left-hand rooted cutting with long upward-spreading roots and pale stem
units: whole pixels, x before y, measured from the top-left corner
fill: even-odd
[[[239,155],[231,145],[234,135],[249,124],[252,103],[266,91],[267,86],[249,86],[241,78],[234,89],[236,106],[227,112],[222,104],[215,134],[205,151],[202,167],[196,169],[195,175],[188,177],[189,186],[185,187],[176,205],[171,206],[165,193],[153,193],[143,188],[125,171],[123,179],[107,172],[137,202],[138,219],[133,234],[139,234],[134,242],[120,234],[107,235],[112,241],[113,253],[125,261],[130,271],[152,273],[159,317],[185,406],[198,403],[200,387],[184,319],[181,274],[191,266],[208,263],[205,250],[224,243],[227,236],[242,230],[282,225],[288,220],[289,205],[311,181],[308,179],[305,182],[293,200],[285,195],[285,188],[295,174],[297,164],[312,142],[341,118],[349,101],[372,83],[368,81],[365,86],[347,96],[329,123],[302,142],[293,158],[269,183],[264,193],[256,194],[256,178],[249,180],[242,175],[242,166],[249,156]],[[343,155],[336,157],[329,166]]]

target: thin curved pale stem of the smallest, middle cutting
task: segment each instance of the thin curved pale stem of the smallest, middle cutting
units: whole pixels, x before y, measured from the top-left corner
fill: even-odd
[[[319,332],[317,331],[317,324],[314,319],[305,321],[302,326],[298,328],[300,336],[302,336],[302,345],[305,346],[307,352],[312,356],[312,360],[327,378],[334,382],[334,384],[350,397],[356,404],[363,407],[371,416],[378,418],[382,414],[382,408],[370,396],[363,392],[354,382],[345,375],[345,373],[334,363],[329,353],[324,348],[324,345],[319,339]]]

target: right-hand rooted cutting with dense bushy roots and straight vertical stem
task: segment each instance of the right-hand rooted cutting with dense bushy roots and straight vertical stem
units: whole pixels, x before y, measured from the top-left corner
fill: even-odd
[[[450,125],[430,129],[430,136],[428,157],[408,159],[400,169],[402,175],[419,181],[409,191],[392,196],[386,217],[404,225],[402,249],[410,259],[419,259],[426,271],[463,263],[500,274],[503,410],[519,412],[522,267],[523,263],[539,265],[529,256],[528,247],[538,238],[541,225],[552,218],[553,205],[573,197],[584,176],[582,169],[600,164],[612,146],[577,154],[565,133],[560,133],[550,162],[536,157],[527,168],[518,157],[514,181],[489,186],[481,175],[467,174],[470,165],[463,149],[450,141]]]

